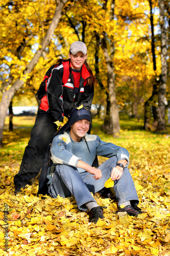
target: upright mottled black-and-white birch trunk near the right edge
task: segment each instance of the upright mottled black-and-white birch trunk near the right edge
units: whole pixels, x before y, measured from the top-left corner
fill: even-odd
[[[167,79],[167,38],[165,28],[165,5],[164,0],[159,0],[160,28],[161,28],[161,75],[158,91],[158,126],[157,131],[165,131],[165,105],[166,105],[166,79]]]

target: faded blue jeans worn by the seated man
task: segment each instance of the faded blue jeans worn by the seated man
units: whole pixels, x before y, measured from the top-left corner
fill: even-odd
[[[105,186],[106,180],[111,176],[113,167],[117,164],[117,157],[111,157],[99,166],[102,171],[102,178],[95,180],[92,174],[85,172],[79,173],[76,167],[57,164],[56,170],[48,192],[53,198],[70,197],[73,195],[76,199],[78,208],[87,210],[85,203],[95,201],[91,193],[95,194]],[[136,193],[134,182],[132,180],[129,169],[124,169],[123,175],[119,180],[114,181],[115,196],[118,205],[123,202],[135,200],[138,204],[139,199]]]

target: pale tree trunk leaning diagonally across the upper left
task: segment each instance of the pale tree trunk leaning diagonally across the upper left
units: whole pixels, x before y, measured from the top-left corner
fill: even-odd
[[[34,57],[32,60],[29,62],[29,64],[26,66],[25,71],[23,72],[23,78],[17,79],[12,86],[9,88],[8,91],[5,91],[2,95],[2,101],[0,104],[0,147],[2,147],[3,143],[3,130],[4,130],[4,123],[5,123],[5,118],[7,115],[7,110],[9,108],[10,100],[13,98],[14,93],[19,90],[27,80],[28,74],[34,69],[36,66],[42,52],[44,51],[45,47],[49,44],[54,31],[58,25],[59,19],[61,17],[62,9],[65,5],[65,3],[68,0],[62,0],[57,2],[57,7],[55,10],[54,17],[52,19],[52,22],[50,24],[50,27],[48,28],[45,37],[43,38],[41,42],[41,48],[37,50],[35,53]]]

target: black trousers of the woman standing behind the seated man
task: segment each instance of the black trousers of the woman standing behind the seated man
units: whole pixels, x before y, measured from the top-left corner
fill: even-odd
[[[49,111],[38,110],[31,138],[23,154],[20,169],[14,177],[15,185],[27,185],[41,170],[49,141],[56,133],[57,125],[53,123]]]

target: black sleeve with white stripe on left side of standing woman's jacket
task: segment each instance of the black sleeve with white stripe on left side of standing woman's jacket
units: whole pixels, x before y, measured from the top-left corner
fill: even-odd
[[[62,86],[63,69],[54,69],[52,72],[50,83],[47,86],[47,97],[50,112],[54,121],[63,121],[63,86]]]

